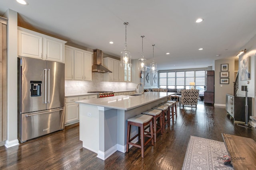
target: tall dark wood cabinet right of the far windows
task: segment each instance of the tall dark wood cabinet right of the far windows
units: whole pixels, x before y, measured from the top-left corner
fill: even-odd
[[[204,103],[214,104],[214,71],[206,73],[206,91],[204,92]]]

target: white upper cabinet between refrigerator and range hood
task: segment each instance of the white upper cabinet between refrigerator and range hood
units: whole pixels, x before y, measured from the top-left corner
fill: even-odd
[[[65,46],[65,79],[92,81],[92,52]]]

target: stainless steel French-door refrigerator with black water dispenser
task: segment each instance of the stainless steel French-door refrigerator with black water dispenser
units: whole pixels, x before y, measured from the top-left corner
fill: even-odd
[[[18,58],[18,139],[64,129],[65,65]]]

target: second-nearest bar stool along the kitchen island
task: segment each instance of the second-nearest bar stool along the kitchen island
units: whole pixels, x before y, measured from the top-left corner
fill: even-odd
[[[163,128],[162,128],[162,111],[158,110],[158,109],[150,109],[147,111],[142,112],[142,114],[145,115],[151,115],[153,116],[153,131],[154,131],[154,143],[156,143],[156,133],[161,132],[161,134],[163,134]],[[159,122],[160,122],[160,127],[157,128],[157,124],[156,124],[156,120],[159,118]],[[146,127],[148,128],[148,127]]]

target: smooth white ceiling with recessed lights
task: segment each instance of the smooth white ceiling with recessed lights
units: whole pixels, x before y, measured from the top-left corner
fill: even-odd
[[[24,6],[16,0],[1,0],[0,16],[12,9],[39,30],[115,57],[124,49],[123,23],[129,22],[127,44],[132,59],[141,57],[140,36],[144,35],[144,57],[149,66],[155,44],[158,70],[212,66],[216,59],[235,57],[256,34],[255,0],[27,2]],[[196,23],[198,18],[204,20]]]

